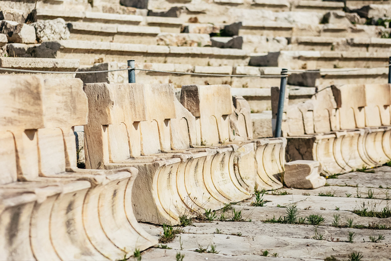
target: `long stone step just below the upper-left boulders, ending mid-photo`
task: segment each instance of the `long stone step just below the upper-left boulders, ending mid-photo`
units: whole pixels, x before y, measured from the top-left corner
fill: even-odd
[[[246,51],[216,47],[177,47],[77,40],[44,42],[41,45],[46,44],[54,45],[50,56],[60,59],[80,59],[81,65],[92,65],[103,61],[119,62],[129,59],[150,63],[180,63],[200,66],[246,65],[249,61]],[[8,44],[7,49],[11,56],[44,56],[45,53],[39,53],[41,45]]]

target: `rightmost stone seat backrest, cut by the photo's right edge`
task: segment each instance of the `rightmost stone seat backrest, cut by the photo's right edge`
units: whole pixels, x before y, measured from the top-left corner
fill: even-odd
[[[390,84],[365,85],[367,106],[364,108],[364,110],[365,123],[367,127],[390,125],[390,90]]]

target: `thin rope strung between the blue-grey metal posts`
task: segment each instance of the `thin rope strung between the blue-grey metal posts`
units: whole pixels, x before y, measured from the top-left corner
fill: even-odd
[[[385,67],[390,67],[391,64],[388,64]],[[383,67],[380,67],[383,68]],[[360,69],[349,69],[349,70],[331,70],[331,71],[322,71],[322,72],[351,72],[351,71],[362,71],[370,70],[376,68],[360,68]],[[214,74],[214,73],[199,73],[199,72],[176,72],[176,71],[159,71],[159,70],[149,70],[149,69],[139,69],[139,68],[124,68],[124,69],[115,69],[115,70],[102,70],[102,71],[38,71],[38,70],[25,70],[25,69],[13,69],[13,68],[2,68],[3,71],[14,71],[14,72],[30,72],[30,73],[63,73],[63,74],[86,74],[86,73],[103,73],[103,72],[116,72],[116,71],[127,71],[127,70],[137,70],[137,71],[147,71],[147,72],[160,72],[160,73],[173,73],[173,74],[188,74],[188,75],[201,75],[201,76],[222,76],[222,77],[260,77],[260,78],[283,78],[288,77],[288,75],[243,75],[243,74]],[[312,72],[319,73],[320,70],[288,70],[288,72]]]

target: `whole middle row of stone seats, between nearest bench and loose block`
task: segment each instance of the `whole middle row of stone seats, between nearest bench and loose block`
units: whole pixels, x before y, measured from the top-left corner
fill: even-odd
[[[284,138],[252,139],[249,107],[228,85],[86,84],[86,167],[133,166],[137,220],[178,224],[217,210],[254,187],[282,187]],[[234,107],[234,109],[233,109]]]

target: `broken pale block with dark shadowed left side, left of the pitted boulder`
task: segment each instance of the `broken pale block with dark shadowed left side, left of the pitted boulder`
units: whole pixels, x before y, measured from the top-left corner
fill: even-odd
[[[15,21],[0,21],[0,33],[7,35],[11,43],[35,43],[35,29],[31,25]]]

